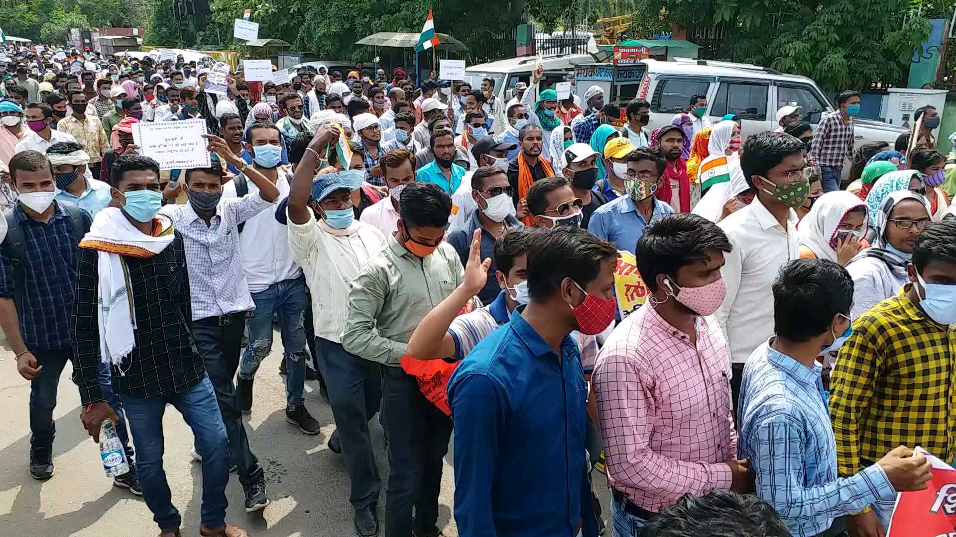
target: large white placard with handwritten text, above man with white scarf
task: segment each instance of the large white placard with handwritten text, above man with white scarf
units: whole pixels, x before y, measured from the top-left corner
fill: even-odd
[[[143,157],[159,162],[161,170],[209,167],[205,134],[205,119],[133,124],[133,143]]]

